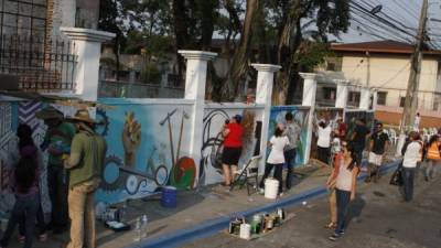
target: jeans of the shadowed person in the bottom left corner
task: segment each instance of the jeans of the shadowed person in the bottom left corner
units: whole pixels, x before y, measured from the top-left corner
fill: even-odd
[[[17,224],[22,216],[25,216],[25,231],[24,231],[24,246],[23,248],[32,247],[32,239],[34,236],[36,212],[40,207],[39,194],[28,195],[25,197],[17,197],[15,204],[12,208],[11,217],[8,222],[7,230],[3,238],[0,240],[0,246],[7,247],[11,236],[15,229]]]

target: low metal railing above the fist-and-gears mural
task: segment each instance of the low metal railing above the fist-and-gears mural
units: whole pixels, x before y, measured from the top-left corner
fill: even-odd
[[[183,98],[184,88],[116,80],[100,80],[99,97]]]

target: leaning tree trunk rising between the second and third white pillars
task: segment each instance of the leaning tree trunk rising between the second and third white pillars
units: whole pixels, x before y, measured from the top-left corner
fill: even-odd
[[[243,80],[246,79],[249,52],[251,48],[251,26],[258,7],[259,0],[247,0],[247,9],[245,13],[244,28],[240,35],[240,44],[235,53],[235,57],[233,58],[233,63],[229,68],[230,75],[223,87],[223,100],[234,100],[234,98],[238,95],[238,86]]]

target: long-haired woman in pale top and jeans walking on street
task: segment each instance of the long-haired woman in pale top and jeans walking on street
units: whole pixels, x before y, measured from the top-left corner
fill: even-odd
[[[342,144],[343,161],[338,166],[338,174],[335,180],[335,196],[337,203],[337,226],[334,234],[330,237],[335,241],[345,231],[345,219],[347,215],[347,207],[352,201],[355,200],[355,188],[358,175],[358,164],[354,158],[354,150],[348,147],[346,142]]]

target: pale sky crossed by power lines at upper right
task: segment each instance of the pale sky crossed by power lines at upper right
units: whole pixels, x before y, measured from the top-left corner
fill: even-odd
[[[373,17],[361,14],[352,8],[351,26],[346,34],[341,35],[340,42],[354,43],[366,41],[378,41],[394,39],[413,42],[418,29],[418,20],[423,0],[353,0],[355,3],[372,10],[373,7],[381,4],[378,17],[390,21],[392,24],[407,31],[408,34],[389,28],[381,28],[379,22],[374,21]],[[441,19],[441,0],[429,0],[429,11],[427,23],[429,35],[433,46],[441,48],[441,22],[430,19]],[[410,34],[413,34],[411,36]]]

